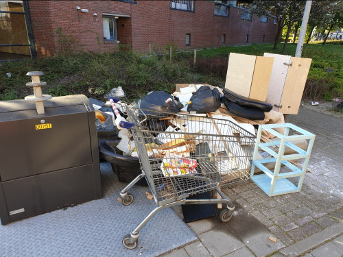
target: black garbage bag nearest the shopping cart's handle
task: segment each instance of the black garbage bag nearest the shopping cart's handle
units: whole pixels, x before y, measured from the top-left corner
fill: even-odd
[[[151,115],[161,115],[163,112],[180,112],[183,108],[178,97],[173,97],[164,91],[153,91],[136,101],[136,104],[145,114]],[[146,112],[145,110],[156,112]]]

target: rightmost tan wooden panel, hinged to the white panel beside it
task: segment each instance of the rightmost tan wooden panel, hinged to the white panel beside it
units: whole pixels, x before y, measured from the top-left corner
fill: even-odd
[[[281,98],[282,108],[280,108],[280,112],[298,114],[311,61],[312,59],[309,58],[292,57],[292,66],[289,66]]]

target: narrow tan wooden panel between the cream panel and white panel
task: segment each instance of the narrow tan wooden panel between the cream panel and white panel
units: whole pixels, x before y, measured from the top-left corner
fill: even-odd
[[[270,75],[272,74],[274,58],[257,56],[255,62],[254,75],[249,97],[260,101],[267,99]]]

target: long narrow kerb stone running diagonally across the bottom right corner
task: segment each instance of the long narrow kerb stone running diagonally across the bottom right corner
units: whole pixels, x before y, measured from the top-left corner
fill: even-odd
[[[294,245],[289,245],[288,247],[281,249],[280,252],[285,254],[285,256],[298,256],[300,254],[304,254],[305,252],[308,252],[309,249],[312,249],[317,245],[320,245],[321,243],[338,236],[342,233],[342,231],[343,223],[331,225],[329,228],[298,241]]]

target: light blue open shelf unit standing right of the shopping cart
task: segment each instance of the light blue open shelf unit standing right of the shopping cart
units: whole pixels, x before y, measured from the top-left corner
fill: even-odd
[[[274,128],[285,128],[285,134],[280,134],[276,132]],[[295,130],[298,132],[297,135],[289,136],[289,130]],[[271,134],[274,134],[279,140],[271,141],[269,143],[261,143],[261,133],[262,130],[266,130]],[[299,135],[300,134],[300,135]],[[312,146],[314,145],[315,135],[303,130],[296,125],[291,123],[283,124],[268,124],[268,125],[259,125],[259,131],[257,132],[257,140],[255,145],[254,156],[252,158],[250,180],[252,180],[259,188],[262,189],[269,196],[273,195],[283,195],[285,193],[294,193],[301,190],[303,185],[303,180],[305,177],[305,172],[307,169],[307,164],[309,162],[309,156],[311,154]],[[309,144],[306,150],[300,149],[290,141],[305,139],[309,140]],[[270,147],[276,146],[279,151],[274,151]],[[296,154],[285,155],[285,147],[290,147]],[[272,158],[257,159],[257,154],[259,149],[266,151]],[[303,169],[299,169],[294,164],[288,160],[304,159]],[[265,164],[274,162],[274,170],[271,171]],[[280,173],[281,164],[285,165],[290,171]],[[255,175],[255,167],[259,168],[263,174]],[[287,178],[299,177],[298,185],[293,184]]]

